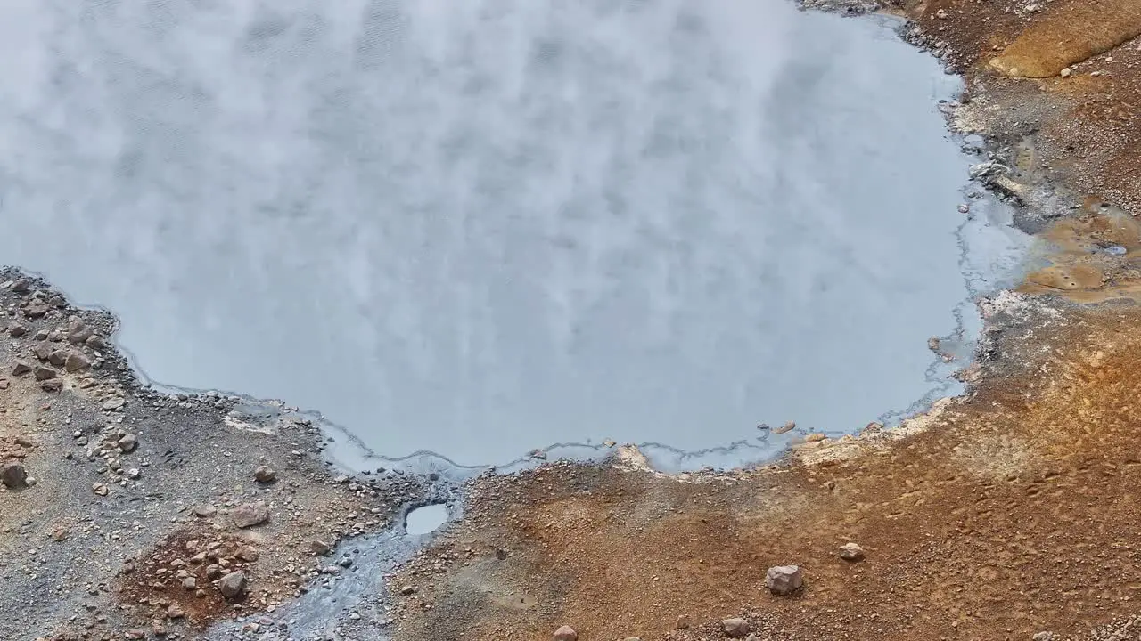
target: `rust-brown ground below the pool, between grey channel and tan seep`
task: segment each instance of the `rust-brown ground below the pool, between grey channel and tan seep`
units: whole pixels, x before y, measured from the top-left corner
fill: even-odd
[[[762,639],[1029,639],[1141,612],[1139,323],[1135,308],[1036,311],[1002,341],[1019,371],[831,464],[485,480],[442,545],[474,549],[471,565],[398,579],[420,586],[403,638],[543,639],[567,623],[662,639],[679,615],[753,611]],[[866,561],[837,557],[849,541]],[[804,568],[796,598],[764,590],[784,563]]]

